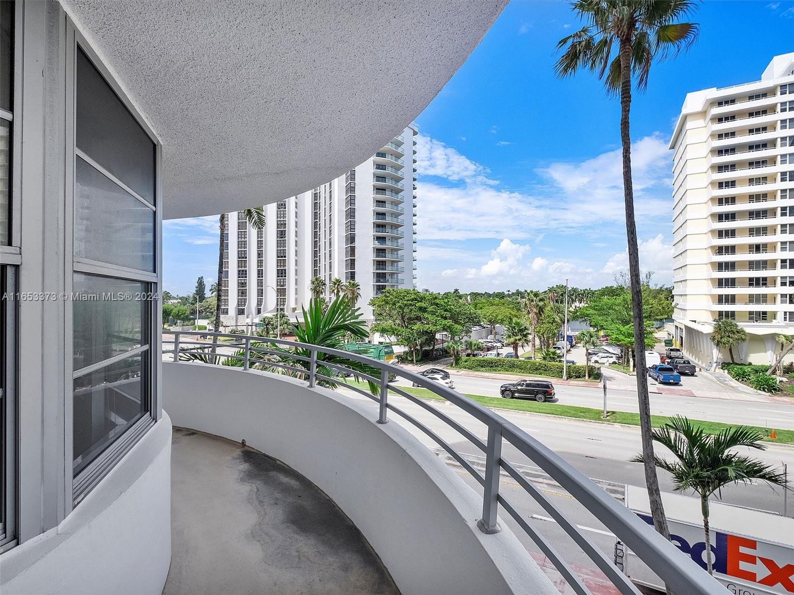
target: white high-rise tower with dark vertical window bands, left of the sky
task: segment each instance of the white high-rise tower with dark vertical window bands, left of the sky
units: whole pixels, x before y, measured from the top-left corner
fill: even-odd
[[[345,175],[266,205],[264,229],[253,229],[243,211],[228,213],[224,324],[249,324],[277,310],[297,316],[314,277],[326,282],[326,298],[333,278],[358,282],[357,305],[367,320],[374,296],[413,287],[417,134],[412,124]]]

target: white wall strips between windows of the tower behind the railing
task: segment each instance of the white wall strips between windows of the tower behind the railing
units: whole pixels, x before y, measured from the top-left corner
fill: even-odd
[[[241,282],[238,277],[237,269],[237,250],[239,240],[237,239],[237,212],[227,213],[229,231],[229,269],[228,269],[228,288],[222,299],[228,299],[228,307],[222,313],[224,324],[244,326],[263,315],[276,312],[277,308],[283,308],[287,314],[300,313],[301,306],[308,304],[311,299],[309,283],[315,274],[314,263],[314,193],[319,195],[318,201],[318,263],[316,273],[326,281],[328,286],[333,278],[341,278],[347,281],[350,272],[355,275],[355,280],[360,285],[360,299],[357,302],[366,320],[372,320],[372,307],[369,301],[376,295],[377,291],[383,287],[407,288],[414,287],[414,260],[415,255],[414,240],[414,213],[413,202],[416,191],[413,190],[414,177],[416,174],[414,154],[414,137],[418,134],[415,125],[410,125],[403,130],[402,147],[404,156],[399,157],[403,163],[397,163],[390,159],[377,159],[371,157],[354,168],[356,173],[356,265],[355,271],[347,271],[345,249],[346,244],[346,176],[342,175],[334,178],[330,182],[318,186],[314,190],[304,192],[295,197],[287,198],[287,283],[283,287],[285,299],[282,304],[276,301],[276,290],[279,288],[276,274],[277,259],[277,212],[279,203],[265,205],[265,228],[264,228],[264,267],[262,287],[257,282],[257,240],[256,230],[249,225],[246,226],[248,242],[247,254],[247,275],[248,288],[245,297],[238,296]],[[399,141],[392,140],[399,144]],[[385,152],[391,149],[384,148]],[[400,183],[402,189],[395,186],[376,182],[374,176],[399,178],[394,172],[376,169],[376,164],[394,167],[402,172],[403,179]],[[384,196],[376,194],[378,190],[388,190],[395,192],[400,197]],[[387,202],[399,205],[403,212],[399,213],[391,209],[375,209],[377,202]],[[398,217],[401,222],[377,221],[376,213],[389,217]],[[391,233],[377,233],[376,229],[397,228],[403,232],[403,236]],[[376,246],[377,241],[388,240],[396,241],[400,246]],[[376,257],[375,250],[396,253],[403,259],[382,259]],[[402,267],[402,271],[376,271],[378,267]],[[393,280],[397,278],[399,282],[378,282],[379,278]],[[262,290],[259,295],[258,290]],[[330,292],[326,291],[326,298],[330,298]],[[261,301],[261,305],[260,302]]]

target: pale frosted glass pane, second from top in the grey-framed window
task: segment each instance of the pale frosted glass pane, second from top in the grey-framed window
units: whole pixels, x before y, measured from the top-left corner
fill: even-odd
[[[77,158],[75,256],[154,271],[155,213]]]

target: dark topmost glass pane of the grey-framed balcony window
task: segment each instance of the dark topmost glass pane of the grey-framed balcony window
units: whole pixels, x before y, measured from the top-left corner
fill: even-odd
[[[80,49],[77,148],[154,204],[155,145]]]

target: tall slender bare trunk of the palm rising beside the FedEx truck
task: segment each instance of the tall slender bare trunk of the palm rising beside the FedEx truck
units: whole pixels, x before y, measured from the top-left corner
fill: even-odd
[[[648,395],[648,375],[645,357],[645,324],[642,316],[642,281],[640,279],[640,256],[637,242],[637,223],[634,221],[634,186],[631,182],[631,44],[630,40],[620,42],[620,143],[623,157],[623,199],[626,203],[626,240],[629,252],[629,278],[634,322],[634,363],[637,367],[637,398],[642,431],[642,453],[644,456],[646,487],[653,527],[657,532],[670,539],[661,502],[661,490],[656,466],[653,464],[653,429],[650,424],[650,399]]]

